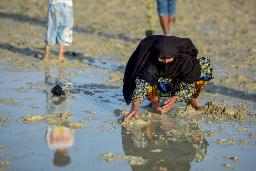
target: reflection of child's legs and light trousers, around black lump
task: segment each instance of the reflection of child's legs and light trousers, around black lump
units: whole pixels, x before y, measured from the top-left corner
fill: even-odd
[[[63,69],[58,68],[58,72],[58,77],[51,77],[50,69],[46,68],[45,83],[49,85],[49,87],[46,90],[46,109],[49,113],[71,112],[72,99],[68,96],[54,96],[51,92],[52,88],[57,84],[59,84],[65,91],[70,91],[71,89],[71,79],[64,77]]]

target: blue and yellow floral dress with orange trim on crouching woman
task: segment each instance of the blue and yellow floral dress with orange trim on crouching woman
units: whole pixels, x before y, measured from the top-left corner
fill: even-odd
[[[158,80],[159,85],[150,86],[148,82],[137,77],[135,80],[136,88],[133,91],[132,100],[137,98],[139,99],[140,104],[142,104],[145,95],[151,102],[155,101],[157,96],[172,97],[176,95],[178,102],[187,102],[191,97],[197,98],[207,81],[214,78],[212,61],[208,57],[202,57],[198,60],[201,65],[201,77],[195,81],[196,84],[186,84],[181,81],[176,92],[166,92],[161,89],[159,85],[170,86],[172,83],[171,78],[160,78]]]

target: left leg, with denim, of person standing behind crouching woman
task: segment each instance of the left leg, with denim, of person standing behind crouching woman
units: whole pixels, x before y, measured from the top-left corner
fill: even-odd
[[[168,0],[157,0],[158,15],[165,35],[169,35]]]

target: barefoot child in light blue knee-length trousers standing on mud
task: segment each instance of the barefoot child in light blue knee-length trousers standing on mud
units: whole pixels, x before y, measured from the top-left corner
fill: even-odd
[[[50,59],[50,46],[59,43],[59,60],[64,60],[65,46],[71,46],[73,35],[72,0],[48,0],[45,57]]]

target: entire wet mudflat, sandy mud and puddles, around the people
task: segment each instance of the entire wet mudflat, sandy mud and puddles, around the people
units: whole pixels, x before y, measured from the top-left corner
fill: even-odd
[[[48,4],[31,0],[21,16],[16,1],[0,2],[0,170],[255,169],[255,1],[177,1],[174,36],[214,63],[205,106],[160,114],[145,100],[123,124],[122,78],[148,29],[144,4],[74,1],[74,43],[59,62],[58,46],[41,59]],[[156,4],[154,16],[162,34]],[[56,84],[67,96],[53,96]]]

